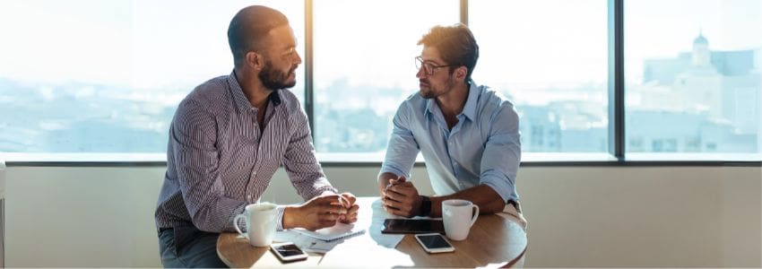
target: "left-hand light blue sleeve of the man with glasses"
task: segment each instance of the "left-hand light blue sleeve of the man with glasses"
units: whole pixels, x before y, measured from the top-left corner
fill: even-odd
[[[397,108],[393,120],[394,129],[386,147],[386,155],[379,175],[390,172],[410,178],[410,170],[415,163],[415,157],[420,152],[418,142],[415,141],[410,129],[411,110],[407,102],[403,102],[400,108]]]

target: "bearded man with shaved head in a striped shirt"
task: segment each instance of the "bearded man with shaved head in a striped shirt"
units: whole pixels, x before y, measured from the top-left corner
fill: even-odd
[[[307,230],[357,221],[354,195],[325,178],[307,115],[288,89],[301,63],[286,17],[252,5],[229,24],[234,69],[203,82],[180,102],[169,128],[167,173],[156,207],[165,267],[226,267],[219,233],[255,204],[283,164],[301,205],[278,206],[277,229]]]

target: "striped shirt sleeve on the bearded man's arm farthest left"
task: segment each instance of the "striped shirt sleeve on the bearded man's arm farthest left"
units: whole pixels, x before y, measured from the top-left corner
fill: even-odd
[[[179,187],[195,227],[210,232],[233,230],[233,218],[247,204],[224,195],[216,135],[211,113],[193,100],[180,104],[169,134]]]

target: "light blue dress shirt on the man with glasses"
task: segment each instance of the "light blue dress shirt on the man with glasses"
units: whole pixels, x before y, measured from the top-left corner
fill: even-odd
[[[412,165],[421,152],[437,195],[487,185],[504,201],[518,202],[515,178],[521,142],[513,104],[472,81],[468,100],[457,119],[453,129],[448,129],[435,99],[423,99],[418,92],[412,94],[394,115],[394,131],[381,173],[410,178]]]

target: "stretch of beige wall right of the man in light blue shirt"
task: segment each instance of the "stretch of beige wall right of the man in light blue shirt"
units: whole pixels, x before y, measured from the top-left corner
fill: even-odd
[[[523,169],[526,266],[759,267],[760,178],[759,168]]]

